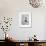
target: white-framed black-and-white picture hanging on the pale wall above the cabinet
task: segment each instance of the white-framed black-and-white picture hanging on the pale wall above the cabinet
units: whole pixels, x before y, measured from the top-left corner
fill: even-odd
[[[19,26],[20,27],[31,27],[31,12],[20,12],[19,13]]]

